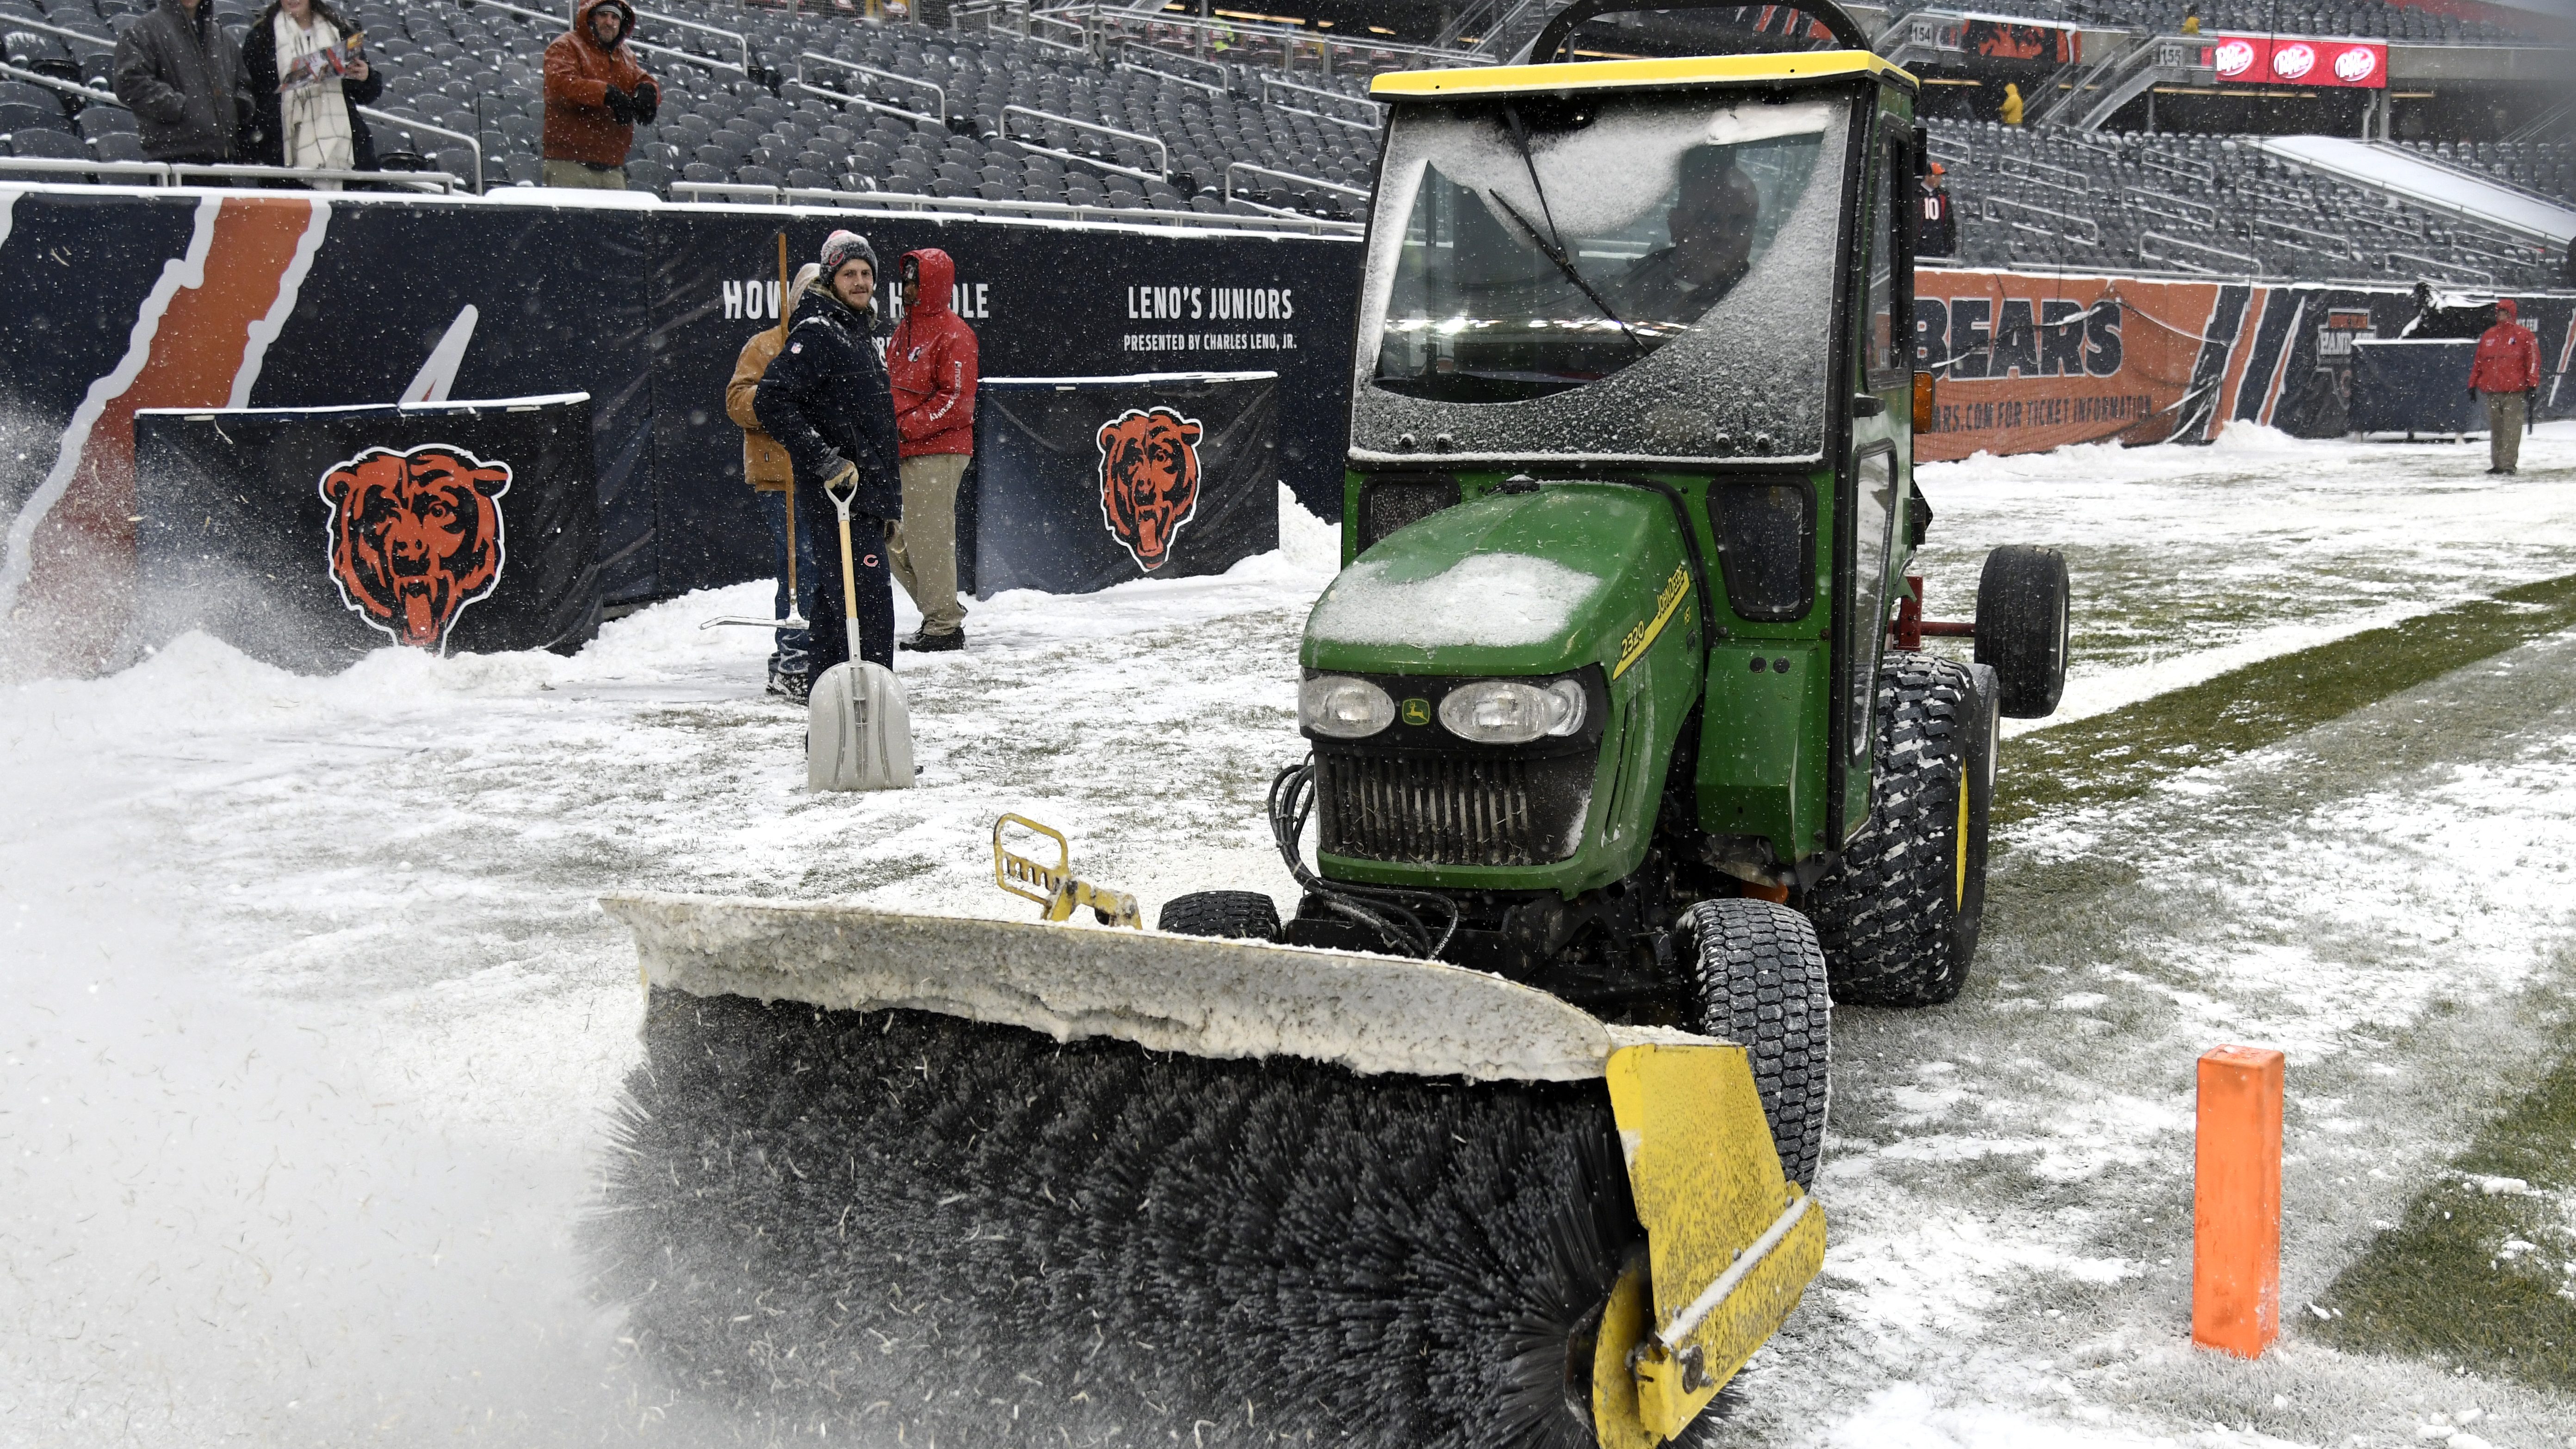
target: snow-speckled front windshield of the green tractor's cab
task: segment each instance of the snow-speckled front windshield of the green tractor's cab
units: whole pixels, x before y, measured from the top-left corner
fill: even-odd
[[[1401,113],[1352,446],[1821,454],[1847,126],[1710,93]]]

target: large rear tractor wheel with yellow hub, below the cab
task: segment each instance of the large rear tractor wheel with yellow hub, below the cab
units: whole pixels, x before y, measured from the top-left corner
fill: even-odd
[[[1940,1006],[1968,985],[2004,694],[1984,665],[1932,655],[1880,665],[1870,820],[1798,900],[1824,941],[1834,1000]]]

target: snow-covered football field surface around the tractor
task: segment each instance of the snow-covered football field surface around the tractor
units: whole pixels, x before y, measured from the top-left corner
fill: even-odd
[[[2257,431],[1927,467],[1932,611],[1968,608],[1986,547],[2063,544],[2081,714],[2576,572],[2576,428],[2519,480],[2481,467]],[[1334,541],[1285,523],[1221,580],[1010,596],[969,652],[904,657],[907,794],[801,792],[765,637],[696,627],[760,585],[569,660],[299,678],[185,637],[0,691],[0,1444],[732,1441],[582,1297],[641,1008],[595,897],[1023,915],[987,853],[1018,810],[1149,913],[1291,900],[1260,802]],[[1834,1248],[1728,1439],[2414,1444],[2476,1408],[2455,1449],[2568,1441],[2576,1397],[2295,1320],[2558,1049],[2537,1021],[2571,985],[2568,634],[2020,828],[1965,998],[1837,1013]],[[2293,1060],[2293,1325],[2254,1366],[2182,1343],[2190,1070],[2218,1042]]]

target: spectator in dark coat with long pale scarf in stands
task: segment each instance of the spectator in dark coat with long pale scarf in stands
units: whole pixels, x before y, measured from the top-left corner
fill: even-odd
[[[384,75],[350,46],[330,0],[270,0],[242,36],[255,111],[242,160],[296,170],[376,170],[376,139],[358,116],[384,95]],[[317,180],[340,191],[337,180]]]

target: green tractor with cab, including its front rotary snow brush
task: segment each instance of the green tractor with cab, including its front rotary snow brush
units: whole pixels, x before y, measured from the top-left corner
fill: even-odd
[[[590,1250],[657,1372],[914,1444],[1713,1434],[1826,1256],[1829,998],[1965,980],[2066,567],[1996,549],[1976,663],[1919,650],[1914,80],[1824,0],[1553,62],[1638,49],[1600,10],[1376,83],[1291,920],[1118,928],[1015,817],[1046,923],[605,902],[647,1008]]]

